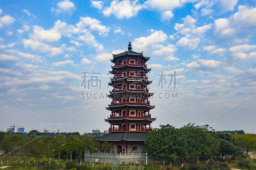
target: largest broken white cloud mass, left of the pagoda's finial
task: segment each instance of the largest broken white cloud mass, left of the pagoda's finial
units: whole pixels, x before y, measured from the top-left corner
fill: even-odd
[[[89,22],[94,20],[94,18],[80,18],[81,21],[78,23],[78,26],[83,26],[85,22]],[[85,21],[86,20],[86,21]],[[92,24],[90,27],[91,29],[98,30],[99,34],[106,34],[107,32],[104,31],[105,26],[101,26],[98,24]],[[106,30],[106,29],[105,29]],[[76,27],[74,25],[67,25],[65,22],[61,22],[60,20],[57,20],[54,23],[54,26],[48,30],[45,30],[44,28],[40,26],[34,26],[34,32],[29,33],[29,39],[23,39],[24,47],[30,47],[33,50],[37,50],[39,47],[46,47],[41,48],[44,52],[49,52],[48,55],[54,56],[58,54],[62,54],[64,50],[71,50],[76,51],[75,47],[66,47],[65,43],[62,44],[62,48],[56,47],[56,44],[54,44],[54,48],[49,47],[49,44],[47,42],[53,41],[56,43],[56,41],[60,41],[61,36],[71,38],[72,42],[78,42],[75,43],[76,46],[82,46],[82,45],[88,45],[90,47],[95,47],[97,51],[103,50],[102,44],[100,44],[96,38],[89,32],[88,29],[81,29],[80,27]],[[36,33],[38,34],[36,34]],[[74,36],[71,36],[72,34],[76,33]],[[78,36],[78,37],[77,37]],[[76,41],[74,41],[76,40]]]

